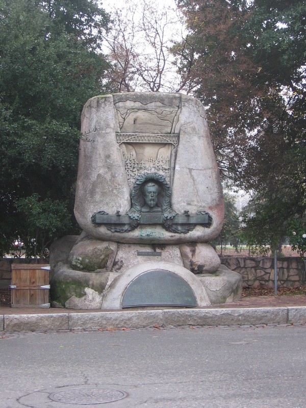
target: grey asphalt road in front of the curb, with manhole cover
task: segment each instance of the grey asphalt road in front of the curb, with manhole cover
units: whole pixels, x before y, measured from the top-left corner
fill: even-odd
[[[3,334],[0,407],[305,408],[305,340],[303,325]]]

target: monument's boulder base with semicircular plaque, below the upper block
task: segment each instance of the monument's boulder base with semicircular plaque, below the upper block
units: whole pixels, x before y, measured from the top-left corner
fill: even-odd
[[[220,265],[206,243],[94,243],[82,235],[64,237],[52,245],[52,307],[205,307],[241,298],[241,275]]]

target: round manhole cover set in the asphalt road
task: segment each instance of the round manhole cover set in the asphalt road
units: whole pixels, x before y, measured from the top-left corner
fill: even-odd
[[[72,388],[58,391],[49,395],[53,401],[67,404],[103,404],[125,398],[126,393],[117,390],[103,390],[99,388]]]

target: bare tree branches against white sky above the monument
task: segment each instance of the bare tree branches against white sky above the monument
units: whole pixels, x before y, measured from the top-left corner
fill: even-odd
[[[119,92],[182,89],[170,50],[182,41],[179,17],[170,7],[127,0],[112,12],[113,29],[105,37],[113,69],[109,81]]]

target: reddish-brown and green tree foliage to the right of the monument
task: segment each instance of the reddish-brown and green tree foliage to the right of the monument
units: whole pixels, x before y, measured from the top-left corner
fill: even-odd
[[[173,53],[186,90],[208,108],[223,177],[254,195],[244,239],[278,248],[306,214],[306,3],[178,4],[189,33]]]

